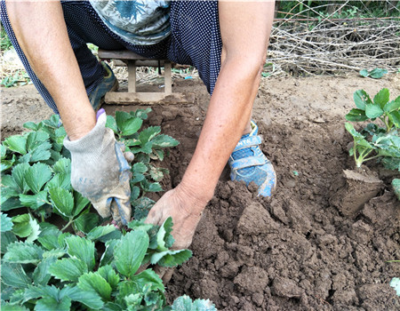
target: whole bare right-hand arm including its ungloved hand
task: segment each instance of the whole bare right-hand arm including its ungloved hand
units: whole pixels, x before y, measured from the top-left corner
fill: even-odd
[[[147,222],[172,216],[174,248],[192,241],[205,205],[211,200],[228,157],[248,124],[265,62],[274,1],[219,2],[222,57],[220,75],[197,142],[180,185],[149,212]],[[246,128],[247,127],[247,128]]]

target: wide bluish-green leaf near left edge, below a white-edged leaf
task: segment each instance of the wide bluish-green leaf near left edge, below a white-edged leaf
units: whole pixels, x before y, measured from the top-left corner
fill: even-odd
[[[4,261],[20,264],[36,264],[42,259],[43,249],[34,243],[16,242],[8,245]]]

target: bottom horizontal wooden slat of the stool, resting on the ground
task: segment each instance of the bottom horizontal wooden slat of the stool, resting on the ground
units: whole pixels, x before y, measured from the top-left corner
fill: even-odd
[[[195,93],[164,92],[108,92],[105,97],[108,104],[128,105],[176,105],[195,103]]]

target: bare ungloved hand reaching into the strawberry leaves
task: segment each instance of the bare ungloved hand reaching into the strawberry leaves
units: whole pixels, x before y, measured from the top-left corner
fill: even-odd
[[[172,249],[186,249],[192,243],[198,222],[207,201],[199,200],[182,185],[166,192],[148,212],[146,223],[161,226],[164,220],[172,217],[172,236],[175,242]],[[154,269],[164,283],[171,279],[173,269],[156,266]]]

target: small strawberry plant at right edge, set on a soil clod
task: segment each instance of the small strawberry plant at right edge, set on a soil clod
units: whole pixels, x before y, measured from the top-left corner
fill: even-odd
[[[364,90],[359,90],[354,93],[354,100],[356,108],[350,110],[346,119],[372,122],[360,132],[353,124],[345,124],[346,130],[353,136],[354,145],[349,153],[354,156],[356,167],[380,158],[388,169],[400,171],[400,96],[390,101],[388,89],[382,89],[371,100]]]

